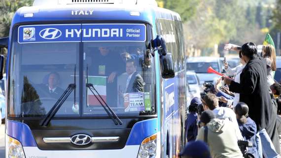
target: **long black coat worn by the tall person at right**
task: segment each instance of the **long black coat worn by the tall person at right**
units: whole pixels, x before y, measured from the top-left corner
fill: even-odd
[[[272,111],[269,86],[267,84],[266,62],[261,57],[251,59],[240,75],[240,83],[232,81],[229,90],[240,93],[240,102],[249,107],[249,117],[252,118],[257,130],[266,128]]]

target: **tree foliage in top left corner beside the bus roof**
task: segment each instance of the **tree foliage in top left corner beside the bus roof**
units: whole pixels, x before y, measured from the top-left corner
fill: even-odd
[[[15,11],[22,6],[32,5],[33,0],[0,0],[0,37],[9,35]]]

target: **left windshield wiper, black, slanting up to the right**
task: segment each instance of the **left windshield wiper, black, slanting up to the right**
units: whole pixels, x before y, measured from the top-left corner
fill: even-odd
[[[76,85],[74,83],[69,84],[67,89],[64,91],[64,93],[61,95],[61,97],[58,99],[58,101],[55,103],[55,105],[52,107],[52,109],[48,112],[48,114],[45,116],[45,118],[41,121],[41,126],[46,126],[50,122],[50,120],[56,115],[58,110],[61,108],[63,103],[67,100],[70,93],[75,89]]]

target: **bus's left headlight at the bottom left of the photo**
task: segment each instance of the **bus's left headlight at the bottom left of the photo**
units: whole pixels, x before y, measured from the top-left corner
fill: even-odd
[[[25,158],[21,143],[8,136],[8,158]]]

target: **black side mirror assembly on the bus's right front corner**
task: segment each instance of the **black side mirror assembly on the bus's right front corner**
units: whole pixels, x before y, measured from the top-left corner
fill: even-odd
[[[160,68],[161,75],[164,79],[171,79],[175,77],[174,64],[172,60],[172,54],[167,53],[166,49],[166,41],[162,36],[157,36],[155,40],[153,40],[153,48],[154,51],[158,50],[160,55]]]

